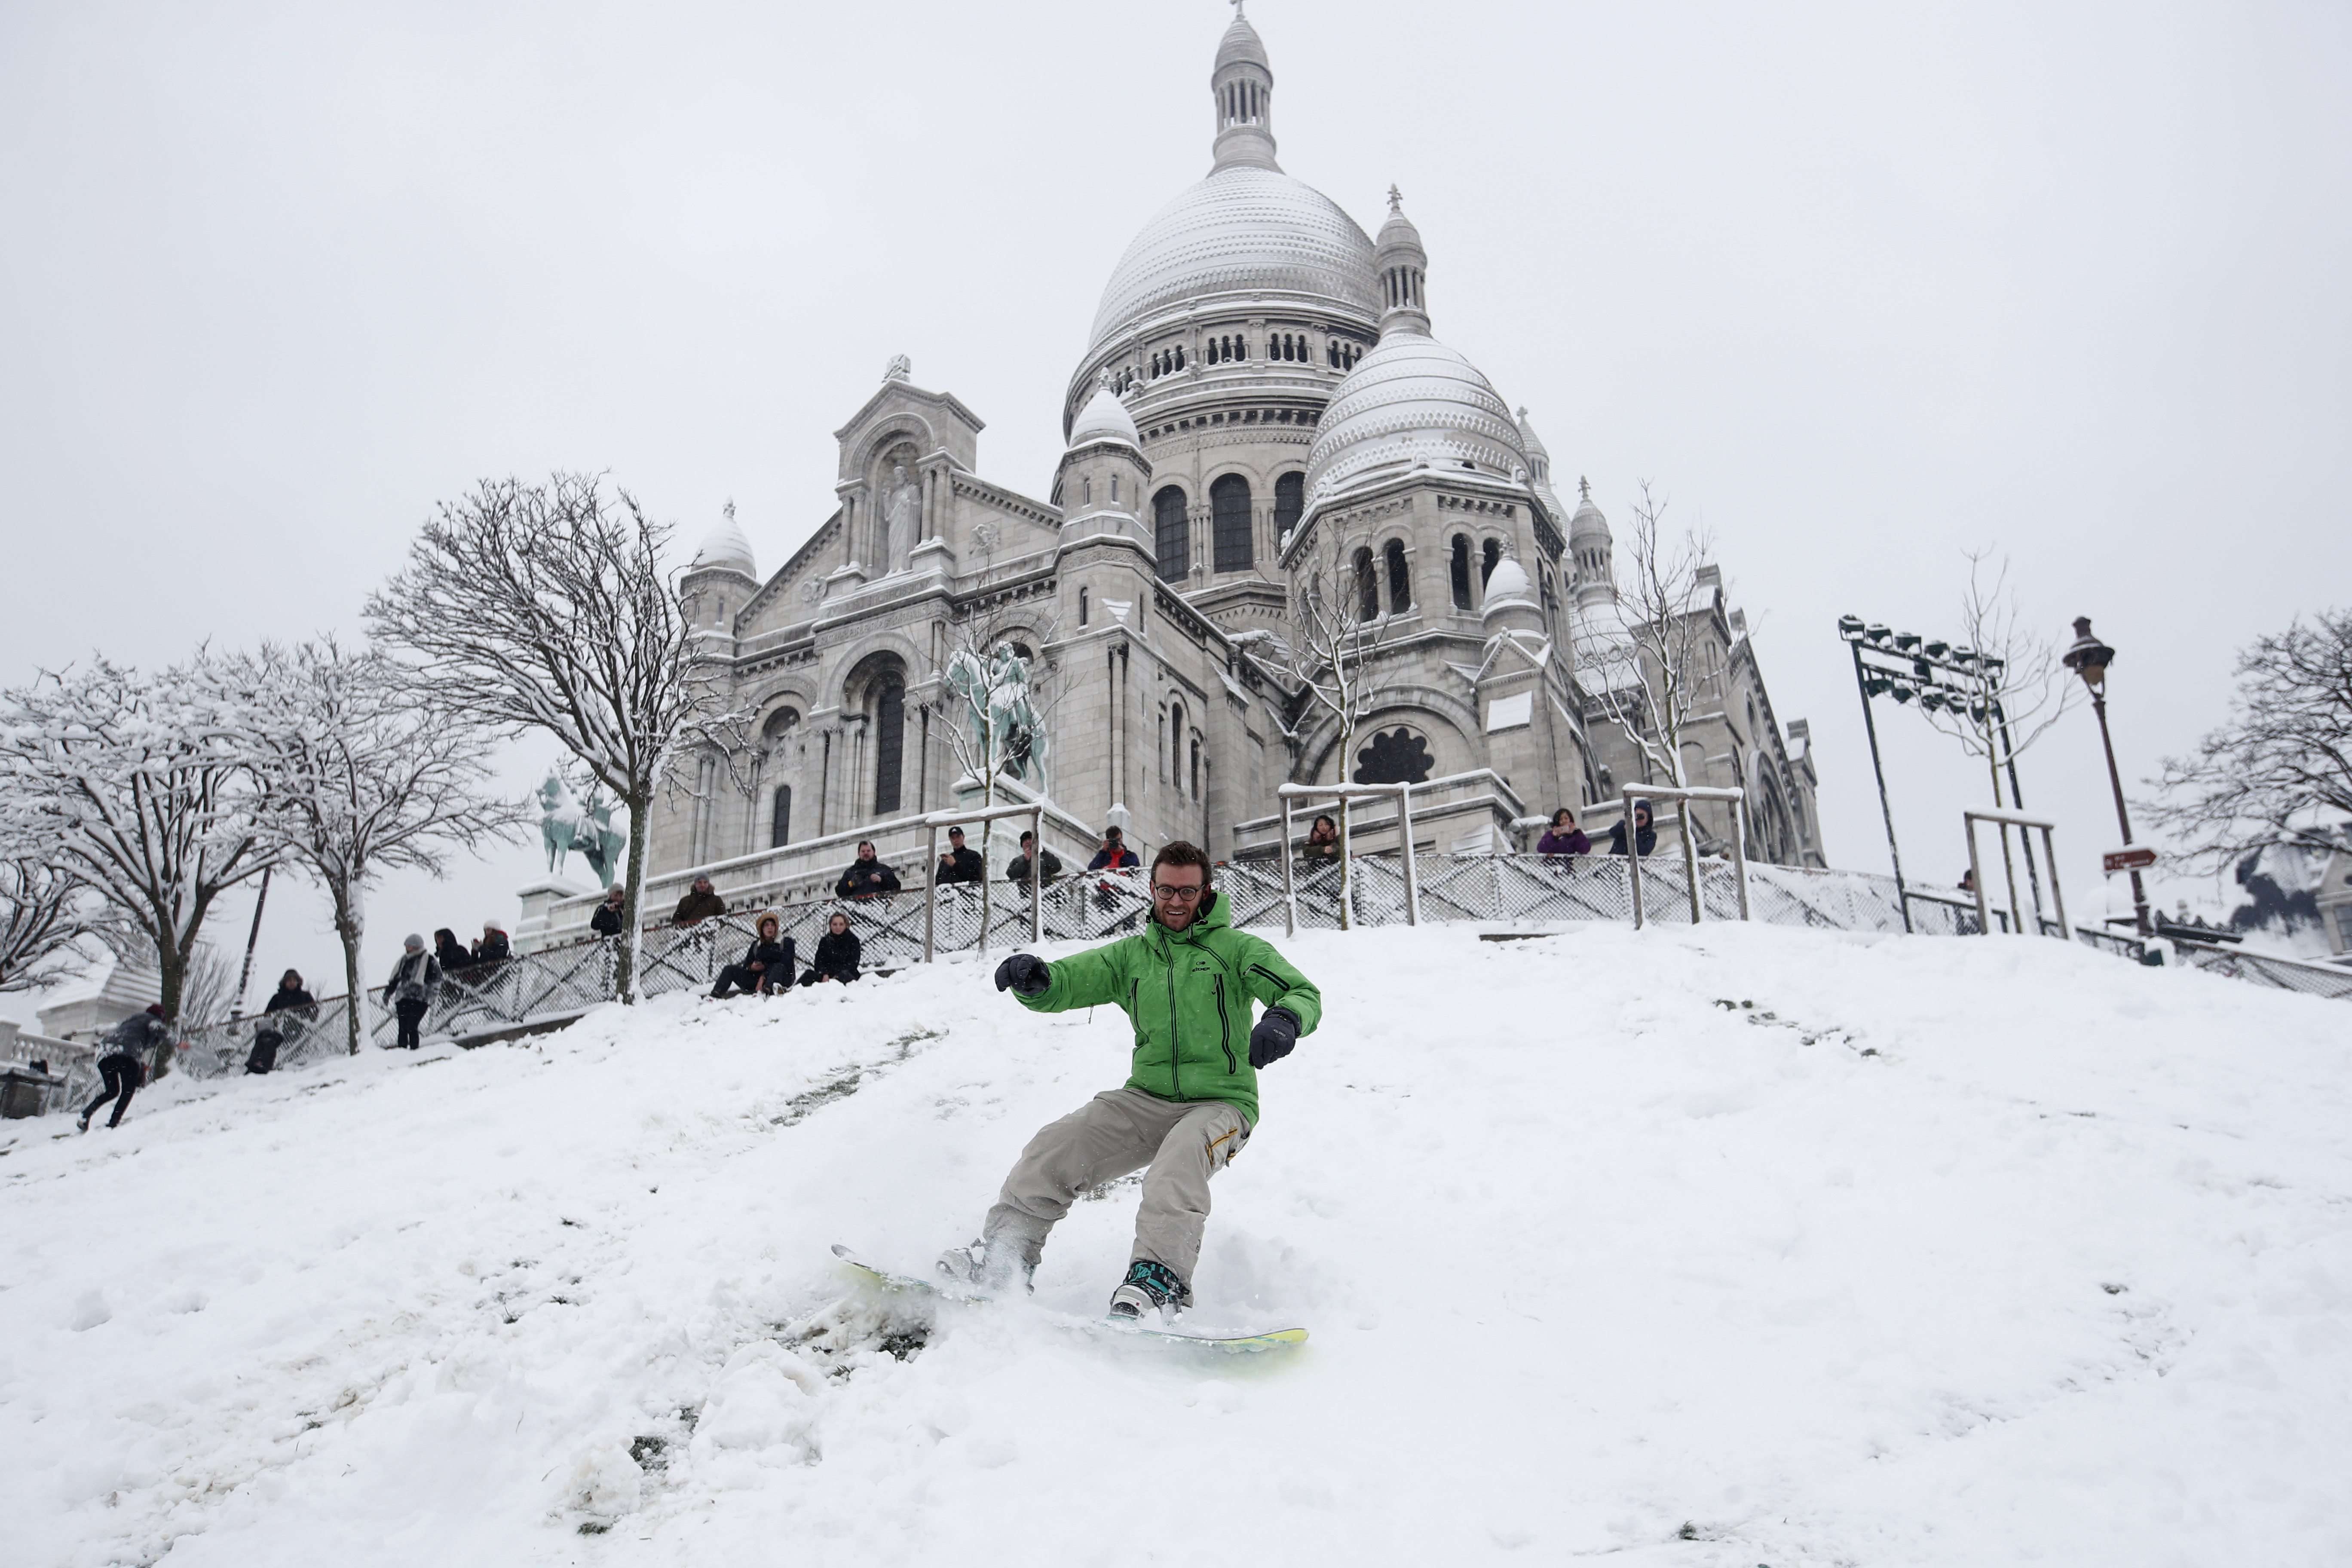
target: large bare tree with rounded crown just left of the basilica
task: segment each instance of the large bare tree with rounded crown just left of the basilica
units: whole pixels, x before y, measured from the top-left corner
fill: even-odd
[[[555,736],[628,806],[614,987],[635,1001],[654,797],[682,750],[741,755],[743,715],[724,705],[661,564],[670,529],[614,494],[597,475],[480,482],[440,505],[409,564],[367,597],[367,623],[426,679],[456,682],[485,722]]]

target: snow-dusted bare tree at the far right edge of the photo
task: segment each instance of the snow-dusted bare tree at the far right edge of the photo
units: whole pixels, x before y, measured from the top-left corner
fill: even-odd
[[[2281,839],[2338,849],[2352,818],[2352,611],[2241,649],[2227,722],[2150,783],[2164,797],[2143,809],[2211,870]]]

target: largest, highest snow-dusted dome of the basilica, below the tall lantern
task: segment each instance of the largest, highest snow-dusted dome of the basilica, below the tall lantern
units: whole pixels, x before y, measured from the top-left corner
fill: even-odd
[[[1319,294],[1381,313],[1371,240],[1338,202],[1277,169],[1230,167],[1160,209],[1110,270],[1094,313],[1103,343],[1204,294]]]

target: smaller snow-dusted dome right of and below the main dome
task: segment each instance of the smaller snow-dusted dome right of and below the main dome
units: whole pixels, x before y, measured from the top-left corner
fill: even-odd
[[[1355,480],[1421,463],[1494,477],[1526,468],[1519,423],[1470,360],[1418,331],[1390,331],[1338,383],[1308,451],[1308,503]]]

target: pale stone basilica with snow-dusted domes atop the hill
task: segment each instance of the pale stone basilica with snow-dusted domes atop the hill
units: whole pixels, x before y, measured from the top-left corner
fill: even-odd
[[[976,797],[943,689],[974,639],[1030,663],[1051,750],[1000,797],[1042,788],[1075,865],[1108,823],[1145,858],[1176,837],[1275,853],[1284,780],[1411,780],[1416,842],[1484,853],[1651,778],[1573,658],[1613,625],[1609,524],[1562,503],[1526,411],[1435,336],[1442,292],[1399,200],[1367,237],[1284,174],[1242,16],[1209,99],[1211,167],[1103,287],[1044,498],[983,480],[981,418],[898,357],[835,433],[835,510],[793,559],[762,576],[731,517],[701,545],[682,592],[755,752],[687,764],[654,820],[649,910],[706,867],[729,903],[804,896],[868,837],[915,884],[915,818]],[[1355,614],[1385,618],[1352,755],[1270,651],[1296,646],[1291,583],[1334,567]],[[1804,724],[1773,719],[1719,590],[1698,618],[1710,701],[1686,776],[1748,788],[1750,856],[1823,865]],[[583,919],[567,900],[543,929]]]

